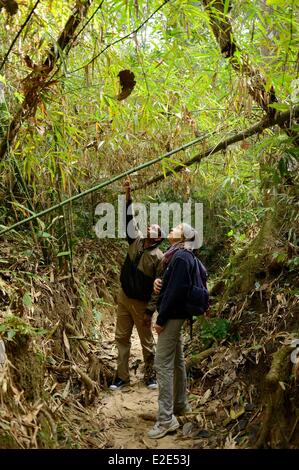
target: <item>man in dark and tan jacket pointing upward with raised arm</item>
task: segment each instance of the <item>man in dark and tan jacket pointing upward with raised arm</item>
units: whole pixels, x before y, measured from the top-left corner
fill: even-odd
[[[117,375],[111,390],[117,390],[128,384],[129,355],[131,334],[136,326],[144,358],[144,380],[148,388],[157,388],[153,368],[155,358],[154,338],[151,330],[151,317],[155,311],[155,302],[151,301],[153,283],[158,275],[158,266],[163,257],[159,244],[162,241],[161,229],[152,225],[147,229],[147,237],[134,225],[130,183],[126,181],[126,235],[129,243],[128,253],[123,264],[120,282],[121,291],[118,299],[118,312],[115,339],[118,349]],[[133,233],[135,232],[135,233]]]

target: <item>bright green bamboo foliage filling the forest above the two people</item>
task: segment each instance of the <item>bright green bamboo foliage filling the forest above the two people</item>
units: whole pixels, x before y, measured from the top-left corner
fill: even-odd
[[[9,55],[0,76],[0,136],[26,93],[24,79],[31,69],[28,59],[26,62],[23,58],[28,56],[36,66],[43,63],[49,48],[53,44],[57,47],[55,41],[74,3],[40,2]],[[60,51],[59,69],[52,77],[55,82],[42,90],[40,102],[23,122],[10,157],[0,164],[3,224],[49,207],[198,134],[215,131],[198,148],[164,161],[160,168],[154,166],[132,176],[133,183],[146,187],[146,181],[158,171],[173,171],[177,162],[184,164],[207,145],[216,145],[221,138],[260,119],[262,113],[249,97],[250,83],[243,76],[237,77],[221,55],[201,2],[169,2],[136,34],[130,34],[161,3],[105,0],[74,47]],[[275,86],[279,103],[274,103],[273,109],[287,109],[298,99],[297,3],[244,0],[229,5],[225,2],[225,11],[240,49],[254,67],[262,70],[266,88]],[[97,7],[98,3],[91,5],[88,18]],[[26,2],[9,20],[9,28],[1,15],[2,57],[27,15]],[[118,73],[125,69],[134,73],[136,86],[119,101]],[[275,153],[275,164],[272,160],[261,168],[265,155],[271,153]],[[294,177],[292,168],[296,164],[298,151],[294,145],[283,134],[269,130],[261,139],[247,139],[191,167],[189,176],[186,172],[183,177],[171,177],[170,183],[166,180],[157,188],[155,199],[176,201],[184,193],[182,199],[186,200],[182,188],[189,185],[191,197],[204,204],[204,240],[210,247],[207,257],[211,258],[214,247],[223,240],[225,245],[234,242],[239,247],[248,241],[248,228],[266,214],[262,196],[266,184],[271,181],[279,187],[288,182]],[[111,187],[111,194],[119,191],[119,185]],[[109,201],[111,194],[105,194]],[[43,219],[44,225],[39,221],[38,227],[32,227],[48,262],[71,263],[74,243],[81,237],[94,236],[94,209],[101,195],[58,212],[55,222],[49,214]],[[137,195],[139,199],[147,196],[148,191]],[[286,203],[294,203],[293,196],[288,197]],[[231,235],[226,237],[227,233]]]

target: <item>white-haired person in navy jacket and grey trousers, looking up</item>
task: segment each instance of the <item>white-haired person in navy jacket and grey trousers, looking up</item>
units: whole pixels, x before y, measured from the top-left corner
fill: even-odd
[[[187,311],[190,287],[201,283],[206,287],[207,277],[204,266],[193,254],[193,249],[199,247],[196,230],[180,224],[170,231],[168,240],[171,247],[163,258],[165,271],[154,326],[159,335],[155,358],[159,411],[157,422],[148,433],[152,439],[176,430],[179,423],[175,415],[191,411],[181,330],[185,320],[190,318]]]

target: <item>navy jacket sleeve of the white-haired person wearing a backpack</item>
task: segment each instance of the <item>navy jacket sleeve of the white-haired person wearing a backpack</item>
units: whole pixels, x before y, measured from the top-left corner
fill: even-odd
[[[163,291],[156,321],[157,325],[165,325],[172,310],[187,297],[190,283],[191,276],[188,262],[177,257],[172,265],[172,271],[166,289]]]

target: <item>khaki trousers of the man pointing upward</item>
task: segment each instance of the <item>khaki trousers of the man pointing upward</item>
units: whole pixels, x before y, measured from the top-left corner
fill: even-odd
[[[136,326],[145,364],[145,380],[155,375],[153,364],[155,358],[154,338],[151,328],[144,326],[143,316],[147,302],[130,299],[123,290],[118,298],[118,311],[115,331],[115,341],[118,349],[117,376],[129,381],[129,356],[133,326]]]

